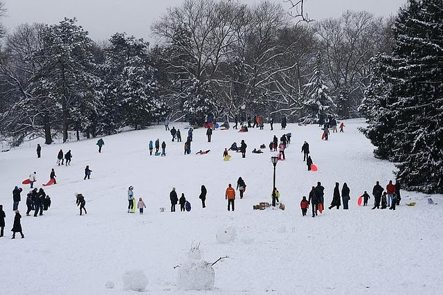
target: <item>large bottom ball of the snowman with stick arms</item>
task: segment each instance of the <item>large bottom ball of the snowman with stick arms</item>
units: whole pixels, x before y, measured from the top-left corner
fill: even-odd
[[[214,268],[204,260],[189,259],[179,268],[177,287],[181,290],[212,290],[214,282]]]

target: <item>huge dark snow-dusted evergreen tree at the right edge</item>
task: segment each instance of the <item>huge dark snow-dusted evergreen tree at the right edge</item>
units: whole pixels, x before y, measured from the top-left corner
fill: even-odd
[[[390,135],[371,138],[376,145],[390,141],[397,181],[425,193],[443,192],[442,19],[442,0],[410,0],[400,10],[392,56],[381,60],[392,99],[383,114],[388,128],[379,131]]]

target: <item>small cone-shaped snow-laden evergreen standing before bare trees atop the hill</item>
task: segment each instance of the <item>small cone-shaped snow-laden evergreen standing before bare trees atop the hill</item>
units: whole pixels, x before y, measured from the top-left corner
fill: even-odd
[[[329,96],[329,88],[323,80],[323,66],[320,51],[317,53],[314,73],[304,87],[305,100],[303,101],[303,114],[300,120],[304,123],[314,123],[318,118],[334,115],[334,102]]]

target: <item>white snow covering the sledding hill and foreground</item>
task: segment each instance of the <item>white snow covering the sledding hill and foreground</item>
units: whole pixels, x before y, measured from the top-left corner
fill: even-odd
[[[187,125],[171,124],[186,138]],[[251,154],[253,147],[269,145],[274,131],[216,130],[206,142],[204,129],[195,129],[192,154],[183,155],[183,143],[172,143],[163,126],[105,136],[98,153],[96,139],[46,146],[42,140],[0,153],[0,204],[6,212],[6,236],[0,238],[2,294],[133,294],[125,288],[125,274],[145,274],[149,294],[201,294],[177,285],[179,267],[192,245],[200,244],[204,260],[215,264],[215,294],[441,294],[443,277],[442,196],[402,192],[396,211],[356,206],[364,190],[372,192],[379,180],[394,179],[394,166],[374,159],[373,146],[358,132],[362,120],[345,122],[343,134],[321,141],[316,125],[289,124],[292,139],[279,162],[277,188],[286,210],[253,211],[259,202],[271,202],[275,152]],[[167,157],[149,156],[147,143],[165,140]],[[222,161],[224,147],[244,139],[246,159],[233,153]],[[308,172],[300,152],[310,144],[318,172]],[[42,145],[37,159],[35,146]],[[71,166],[56,166],[57,152],[71,150]],[[196,155],[198,150],[208,150]],[[83,180],[89,165],[91,179]],[[26,217],[26,193],[21,185],[30,172],[37,184],[46,183],[55,168],[57,184],[45,189],[52,205],[42,217]],[[235,212],[226,210],[224,191],[243,177],[244,199],[235,200]],[[321,181],[329,205],[336,181],[351,190],[350,210],[324,211],[302,217],[300,200]],[[198,199],[200,186],[208,189],[206,208]],[[12,189],[24,187],[19,210],[24,239],[10,240]],[[144,215],[127,213],[127,188],[147,204]],[[190,213],[170,213],[169,193],[177,188],[192,204]],[[74,193],[82,193],[87,215],[79,216]],[[237,190],[238,195],[238,190]],[[369,204],[373,204],[371,197]],[[406,202],[417,202],[414,207]],[[165,207],[166,212],[159,208]],[[230,243],[217,242],[217,233],[235,230]],[[106,286],[105,286],[106,285]],[[114,288],[110,288],[114,285]]]

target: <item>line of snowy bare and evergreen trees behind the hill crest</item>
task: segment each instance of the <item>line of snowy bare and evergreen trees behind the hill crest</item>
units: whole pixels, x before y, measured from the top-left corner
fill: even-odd
[[[0,132],[113,134],[164,120],[201,125],[247,113],[311,123],[354,116],[392,19],[368,12],[296,23],[264,1],[186,0],[154,24],[156,44],[116,33],[98,44],[75,19],[21,24],[0,53]]]

